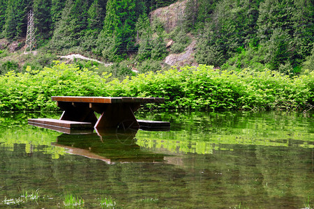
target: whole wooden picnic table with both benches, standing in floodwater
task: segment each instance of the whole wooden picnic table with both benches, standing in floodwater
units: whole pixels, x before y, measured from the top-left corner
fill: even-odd
[[[140,123],[151,127],[170,127],[168,122],[137,121],[134,112],[141,104],[162,103],[164,98],[109,98],[109,97],[70,97],[54,96],[53,101],[63,110],[60,120],[29,119],[31,125],[63,128],[128,128],[138,129]],[[100,114],[97,118],[95,112]]]

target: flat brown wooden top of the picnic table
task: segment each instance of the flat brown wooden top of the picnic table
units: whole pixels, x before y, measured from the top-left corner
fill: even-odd
[[[57,102],[88,102],[88,103],[163,103],[165,98],[110,98],[110,97],[73,97],[53,96],[52,101]]]

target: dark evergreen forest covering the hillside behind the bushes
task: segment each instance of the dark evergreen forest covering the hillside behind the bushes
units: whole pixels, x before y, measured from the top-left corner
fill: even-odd
[[[160,70],[165,56],[184,52],[192,40],[197,64],[223,70],[267,68],[298,75],[314,68],[313,1],[185,0],[177,27],[168,31],[150,14],[174,2],[0,0],[0,36],[25,38],[27,13],[33,10],[38,49],[89,54],[121,70],[120,63],[130,59],[137,68]],[[167,49],[170,39],[174,44]]]

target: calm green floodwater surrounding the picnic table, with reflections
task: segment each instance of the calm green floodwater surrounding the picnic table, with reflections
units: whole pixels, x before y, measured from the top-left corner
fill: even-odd
[[[170,131],[101,136],[27,125],[59,115],[1,114],[0,208],[65,208],[69,194],[83,208],[314,207],[313,112],[142,112]]]

